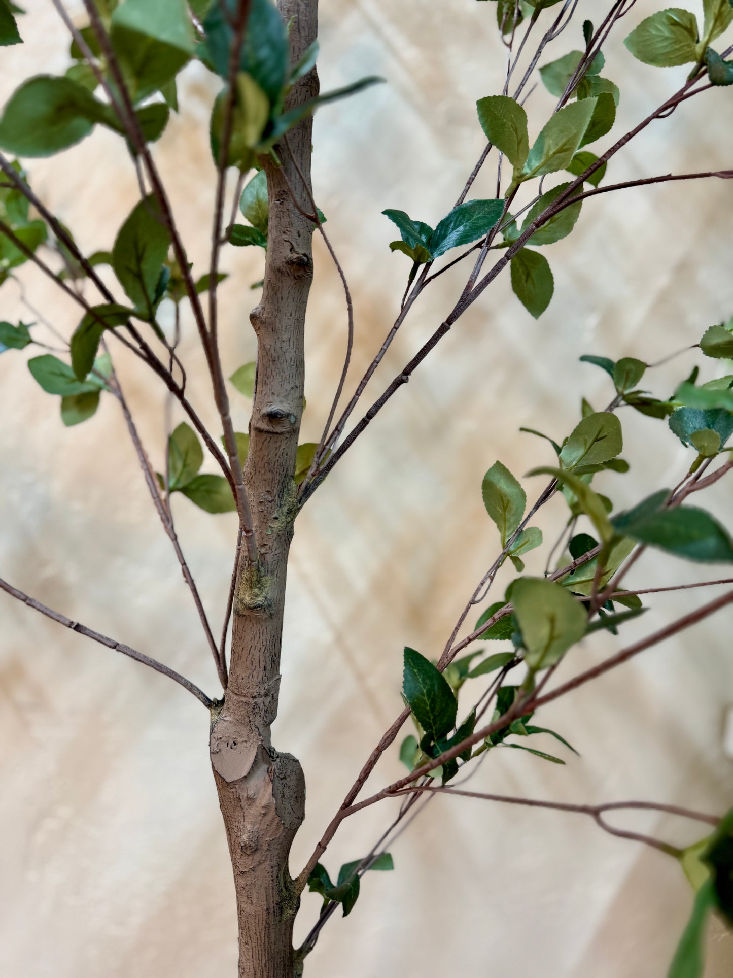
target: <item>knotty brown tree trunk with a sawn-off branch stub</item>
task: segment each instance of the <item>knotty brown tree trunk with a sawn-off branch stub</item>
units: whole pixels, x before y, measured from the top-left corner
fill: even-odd
[[[291,61],[316,39],[317,0],[279,0],[290,27]],[[285,108],[318,94],[312,71]],[[288,134],[306,179],[311,173],[311,120]],[[270,205],[265,281],[250,315],[257,334],[257,376],[244,483],[259,562],[242,549],[232,632],[229,686],[211,726],[211,763],[227,830],[237,891],[239,978],[292,978],[292,926],[299,897],[288,855],[305,814],[298,761],[272,746],[278,713],[280,646],[287,555],[296,513],[295,452],[303,411],[303,333],[313,277],[314,225],[293,204],[289,183],[309,210],[300,177],[281,148],[281,169],[265,163]],[[283,178],[287,178],[287,182]]]

